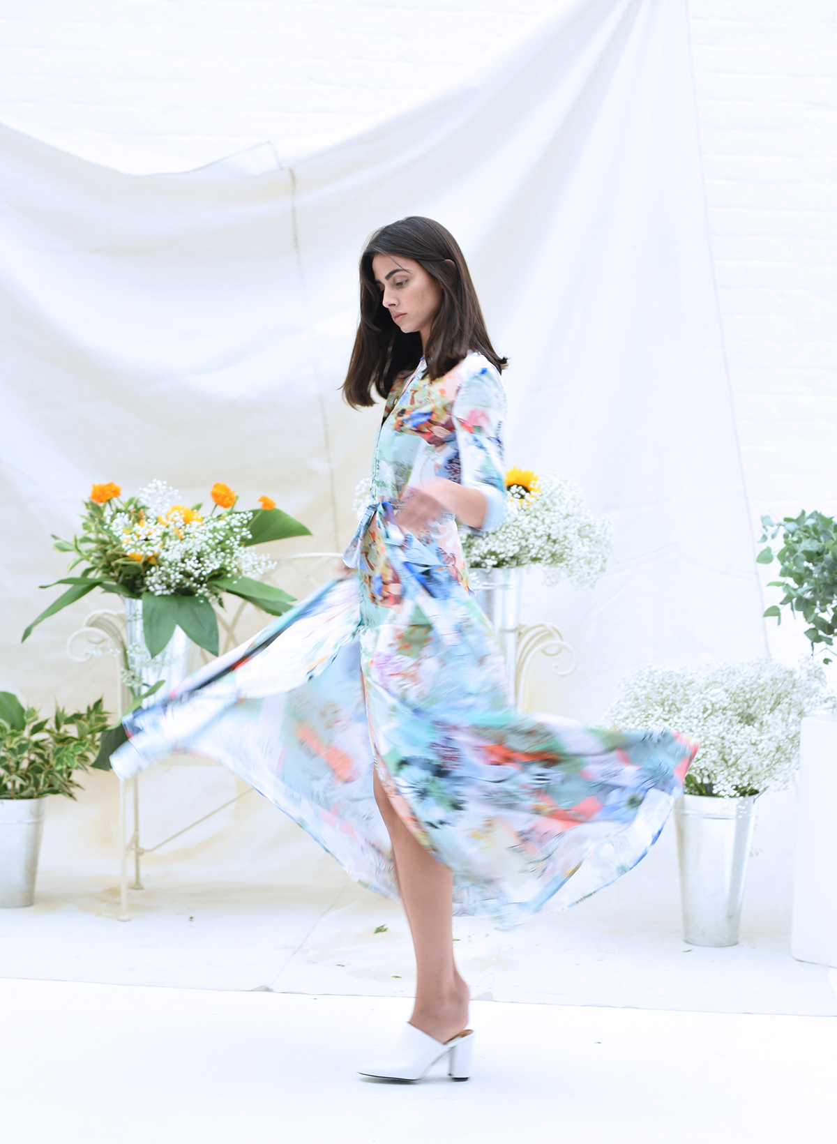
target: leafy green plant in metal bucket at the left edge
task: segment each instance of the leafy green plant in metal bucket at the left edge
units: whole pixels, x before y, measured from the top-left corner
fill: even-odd
[[[32,905],[46,796],[75,797],[75,772],[93,763],[107,722],[101,699],[49,720],[0,691],[0,906]]]

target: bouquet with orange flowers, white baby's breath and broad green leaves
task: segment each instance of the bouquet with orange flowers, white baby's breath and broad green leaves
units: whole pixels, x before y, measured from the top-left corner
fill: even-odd
[[[217,656],[218,625],[212,605],[223,606],[223,593],[271,615],[281,615],[293,603],[281,588],[255,579],[276,564],[248,549],[310,532],[269,496],[260,498],[258,509],[237,511],[236,493],[218,482],[210,493],[213,508],[205,515],[200,503],[180,503],[180,493],[162,480],[152,480],[126,500],[121,494],[119,485],[94,485],[85,502],[81,533],[72,541],[53,537],[58,551],[73,554],[67,571],[79,564],[85,567],[80,575],[55,581],[70,587],[30,623],[24,639],[35,625],[101,588],[142,601],[151,657],[162,651],[175,627]]]

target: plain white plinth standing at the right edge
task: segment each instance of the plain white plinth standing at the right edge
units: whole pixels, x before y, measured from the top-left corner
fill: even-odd
[[[804,718],[797,799],[794,920],[790,952],[799,961],[837,967],[837,720]]]

